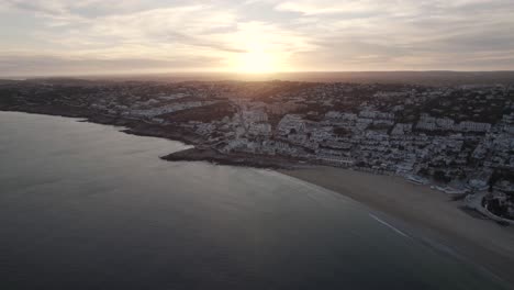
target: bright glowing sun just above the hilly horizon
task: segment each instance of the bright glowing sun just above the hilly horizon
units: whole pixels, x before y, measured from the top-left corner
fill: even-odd
[[[277,70],[273,55],[264,49],[252,49],[239,56],[237,70],[247,74],[266,74]]]

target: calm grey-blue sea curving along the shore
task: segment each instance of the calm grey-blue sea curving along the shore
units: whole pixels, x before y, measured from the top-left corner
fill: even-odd
[[[0,289],[496,289],[340,194],[0,112]]]

